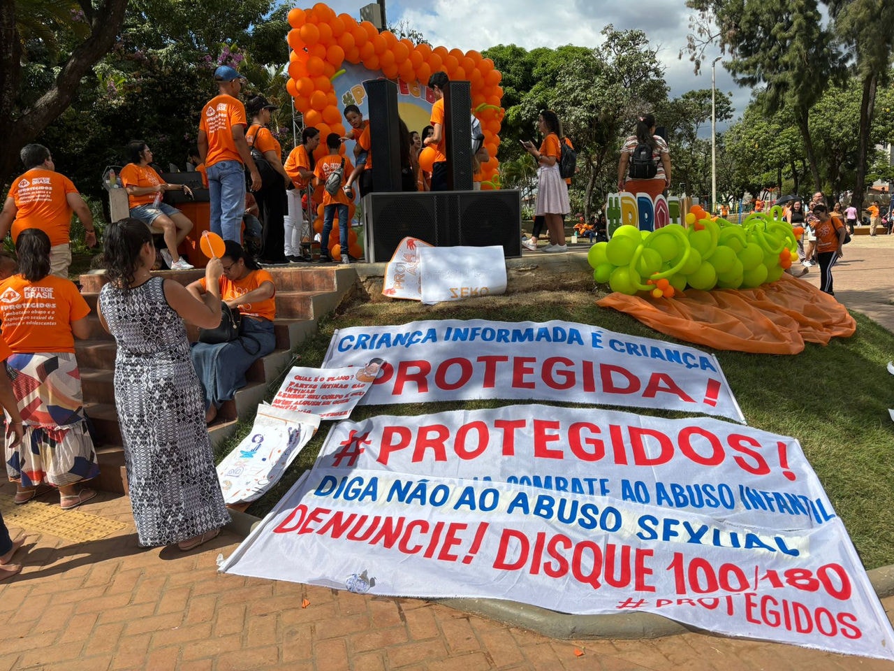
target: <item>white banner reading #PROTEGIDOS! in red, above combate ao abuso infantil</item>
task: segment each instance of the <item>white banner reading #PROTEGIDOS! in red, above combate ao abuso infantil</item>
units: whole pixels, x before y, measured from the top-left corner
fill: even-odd
[[[811,528],[836,517],[801,446],[728,421],[509,405],[335,424],[316,465],[493,480]]]

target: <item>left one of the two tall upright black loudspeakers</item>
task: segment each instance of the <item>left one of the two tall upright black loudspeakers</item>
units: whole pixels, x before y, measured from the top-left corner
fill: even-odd
[[[401,191],[400,115],[397,84],[364,81],[369,106],[369,141],[373,154],[373,191]]]

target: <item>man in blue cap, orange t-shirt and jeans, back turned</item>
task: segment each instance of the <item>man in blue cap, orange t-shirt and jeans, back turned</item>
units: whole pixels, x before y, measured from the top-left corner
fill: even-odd
[[[245,169],[249,166],[251,191],[261,188],[261,175],[245,141],[245,106],[239,100],[242,75],[229,65],[215,70],[219,95],[202,108],[198,123],[198,155],[205,164],[208,198],[211,200],[211,230],[241,244],[242,212],[245,209]]]

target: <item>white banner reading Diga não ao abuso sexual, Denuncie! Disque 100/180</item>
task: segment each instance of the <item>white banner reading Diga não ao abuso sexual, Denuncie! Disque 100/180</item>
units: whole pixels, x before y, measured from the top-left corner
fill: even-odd
[[[838,519],[780,531],[613,497],[316,467],[222,570],[383,596],[650,612],[894,658],[894,633]]]

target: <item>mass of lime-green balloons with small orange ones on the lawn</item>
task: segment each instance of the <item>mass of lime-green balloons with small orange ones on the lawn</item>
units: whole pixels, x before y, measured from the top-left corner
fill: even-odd
[[[620,226],[609,242],[590,248],[593,278],[615,292],[672,298],[687,287],[710,291],[775,282],[797,260],[796,231],[779,206],[753,212],[741,225],[708,217],[695,206],[686,224],[651,233]]]

